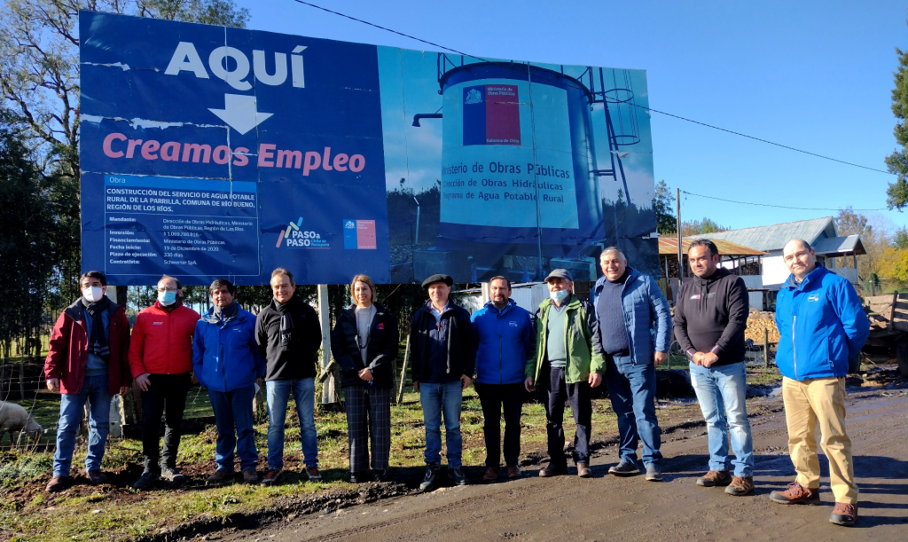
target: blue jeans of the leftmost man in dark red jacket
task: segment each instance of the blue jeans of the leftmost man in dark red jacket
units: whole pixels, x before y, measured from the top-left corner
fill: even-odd
[[[107,392],[107,375],[85,377],[79,393],[64,393],[60,399],[60,423],[57,428],[57,449],[54,453],[54,476],[69,476],[73,463],[75,434],[87,400],[88,454],[85,456],[85,470],[100,470],[104,459],[104,445],[110,430],[111,396]]]

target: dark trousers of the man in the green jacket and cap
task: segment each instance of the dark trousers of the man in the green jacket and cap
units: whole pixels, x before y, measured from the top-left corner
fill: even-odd
[[[545,377],[545,372],[543,372]],[[540,379],[540,387],[547,393],[546,429],[548,432],[548,457],[556,468],[567,467],[565,458],[565,400],[574,411],[577,433],[574,435],[574,463],[589,461],[589,436],[592,433],[593,403],[589,397],[589,383],[565,382],[564,368],[550,368],[548,381]]]

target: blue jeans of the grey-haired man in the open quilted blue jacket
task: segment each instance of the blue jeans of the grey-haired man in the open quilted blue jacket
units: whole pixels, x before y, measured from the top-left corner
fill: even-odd
[[[637,462],[637,440],[643,440],[644,465],[658,465],[661,432],[656,419],[656,367],[633,363],[629,356],[606,356],[606,386],[618,421],[621,458]]]

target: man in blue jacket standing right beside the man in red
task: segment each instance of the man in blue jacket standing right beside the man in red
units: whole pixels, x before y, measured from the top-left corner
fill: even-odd
[[[195,324],[192,340],[192,369],[208,389],[218,429],[214,447],[217,470],[207,481],[214,484],[233,477],[235,447],[243,481],[254,484],[259,480],[255,471],[259,452],[252,428],[252,399],[256,377],[265,376],[265,363],[255,341],[255,316],[233,301],[236,289],[230,281],[213,281],[208,292],[214,306]]]

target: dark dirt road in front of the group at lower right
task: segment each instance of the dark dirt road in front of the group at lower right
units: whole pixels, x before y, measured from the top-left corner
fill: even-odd
[[[794,479],[783,412],[751,419],[755,494],[725,495],[698,488],[706,470],[702,427],[664,436],[662,483],[616,478],[615,447],[592,460],[594,478],[525,478],[491,485],[443,488],[381,500],[328,514],[300,517],[277,527],[214,535],[224,540],[908,540],[908,396],[903,389],[851,391],[848,430],[861,488],[856,527],[828,522],[833,496],[825,458],[824,506],[781,506],[768,494]],[[777,403],[778,399],[765,399]],[[595,428],[594,428],[595,431]],[[674,440],[672,440],[674,439]],[[209,536],[212,538],[212,535]]]

